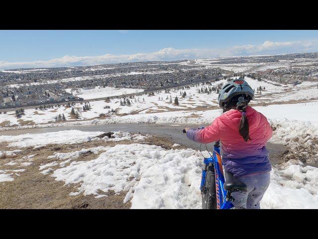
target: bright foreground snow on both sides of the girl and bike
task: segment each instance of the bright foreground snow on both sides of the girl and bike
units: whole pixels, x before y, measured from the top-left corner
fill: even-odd
[[[55,164],[56,165],[56,164]],[[52,165],[53,166],[53,165]],[[193,149],[163,149],[147,144],[106,147],[97,158],[52,169],[66,185],[79,183],[70,195],[106,197],[110,190],[126,194],[132,209],[200,209],[202,156]],[[42,172],[44,173],[44,171]],[[318,209],[318,169],[289,162],[273,168],[263,209]]]

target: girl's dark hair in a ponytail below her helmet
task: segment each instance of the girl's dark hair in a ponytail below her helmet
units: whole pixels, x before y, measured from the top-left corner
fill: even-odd
[[[244,101],[239,102],[239,97],[243,97]],[[237,109],[239,112],[245,112],[247,105],[250,101],[250,98],[245,95],[237,95],[234,96],[229,102],[227,102],[223,107],[223,113],[231,110]],[[242,114],[240,121],[239,121],[239,134],[242,135],[243,139],[247,141],[250,139],[249,137],[249,127],[246,114]]]

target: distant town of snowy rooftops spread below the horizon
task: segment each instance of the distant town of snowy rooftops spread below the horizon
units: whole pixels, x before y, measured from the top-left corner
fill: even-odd
[[[0,108],[83,101],[80,95],[72,94],[79,89],[153,91],[241,74],[277,83],[318,81],[318,53],[8,69],[0,71]]]

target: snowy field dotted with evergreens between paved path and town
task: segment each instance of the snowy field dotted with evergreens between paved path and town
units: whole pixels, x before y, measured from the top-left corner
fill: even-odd
[[[306,82],[297,86],[292,85],[280,85],[276,86],[274,82],[271,81],[257,81],[245,77],[245,80],[250,84],[250,86],[255,89],[258,87],[265,87],[265,90],[261,94],[255,93],[255,99],[251,104],[278,104],[280,102],[290,102],[290,101],[308,101],[310,99],[318,98],[318,88],[317,84],[314,82]],[[142,96],[136,96],[133,98],[128,98],[130,105],[120,105],[120,101],[124,99],[112,99],[110,102],[105,101],[92,101],[90,102],[91,110],[83,111],[83,103],[75,104],[74,106],[68,107],[67,104],[61,104],[59,107],[54,106],[50,109],[40,110],[40,109],[27,109],[25,110],[25,115],[17,119],[15,112],[8,112],[6,114],[0,114],[0,130],[8,129],[7,127],[42,127],[43,124],[52,123],[52,125],[64,125],[64,124],[87,124],[89,119],[90,123],[94,124],[96,122],[112,123],[112,122],[196,122],[203,121],[203,119],[198,117],[203,114],[203,111],[208,111],[209,109],[217,109],[217,97],[218,93],[212,91],[210,94],[198,93],[199,90],[205,87],[217,87],[218,84],[226,84],[226,80],[221,80],[211,85],[194,85],[188,88],[175,88],[170,90],[168,93],[164,91],[155,92],[154,96],[148,94]],[[82,90],[82,97],[84,98],[95,98],[100,96],[106,96],[107,94],[124,94],[132,93],[131,91],[139,91],[138,89],[115,89],[100,88],[93,90]],[[180,96],[184,92],[185,97]],[[179,105],[174,104],[175,97],[178,98]],[[88,100],[87,100],[88,101]],[[127,99],[125,99],[127,101]],[[317,101],[317,100],[316,100]],[[270,106],[268,106],[270,107]],[[285,109],[288,106],[278,105],[278,109]],[[72,108],[75,111],[79,111],[80,119],[86,121],[78,121],[71,116]],[[270,109],[270,108],[269,108]],[[308,109],[308,108],[307,108]],[[113,112],[111,112],[113,110]],[[276,112],[276,109],[275,109]],[[279,110],[279,112],[281,112]],[[56,124],[55,118],[59,115],[64,114],[67,121],[59,121]],[[100,114],[105,114],[106,118],[99,118]],[[127,116],[128,115],[128,116]],[[203,115],[209,116],[209,111],[205,112]],[[304,115],[304,114],[302,114]],[[301,116],[302,116],[301,115]],[[300,116],[300,117],[301,117]],[[182,119],[177,119],[183,117]],[[97,119],[99,118],[99,119]],[[297,119],[299,119],[297,117]],[[77,122],[71,122],[77,121]]]

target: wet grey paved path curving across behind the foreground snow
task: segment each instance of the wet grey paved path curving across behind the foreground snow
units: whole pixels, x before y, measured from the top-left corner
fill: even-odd
[[[156,123],[120,123],[120,124],[104,124],[104,125],[87,125],[87,126],[69,126],[69,127],[48,127],[48,128],[29,128],[1,131],[2,135],[17,135],[23,133],[45,133],[56,132],[60,130],[77,129],[82,131],[129,131],[129,132],[142,132],[148,133],[154,136],[162,136],[171,139],[173,142],[182,146],[193,148],[198,150],[199,143],[189,140],[185,133],[182,133],[182,129],[186,126],[197,127],[198,125],[182,125],[182,124],[156,124]],[[213,144],[207,144],[209,150],[212,150]],[[202,144],[201,149],[206,150],[205,145]],[[272,164],[279,163],[281,161],[281,154],[287,149],[283,144],[267,143],[267,149],[270,152],[270,160]],[[206,155],[208,156],[208,155]]]

